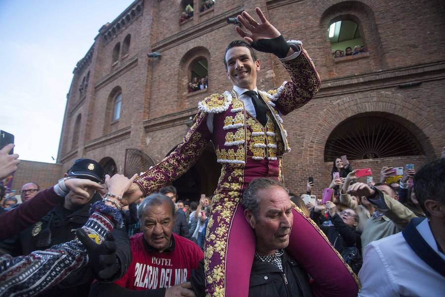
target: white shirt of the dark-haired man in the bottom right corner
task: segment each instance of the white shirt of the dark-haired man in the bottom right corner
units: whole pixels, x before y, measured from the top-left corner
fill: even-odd
[[[417,231],[443,259],[424,219]],[[370,243],[364,250],[363,266],[358,273],[359,297],[444,296],[445,277],[431,268],[409,247],[402,233]]]

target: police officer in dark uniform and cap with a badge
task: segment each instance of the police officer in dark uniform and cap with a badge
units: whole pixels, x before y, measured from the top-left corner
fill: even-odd
[[[77,159],[73,166],[64,174],[65,177],[85,178],[97,183],[103,183],[104,172],[102,166],[91,159]],[[34,250],[42,250],[57,244],[66,243],[76,236],[76,229],[82,227],[89,218],[91,204],[100,200],[99,193],[94,189],[85,189],[89,198],[81,197],[74,192],[65,196],[64,200],[51,209],[39,222],[20,233],[20,254],[27,255]],[[117,274],[131,263],[131,255],[125,253],[129,239],[123,229],[114,229],[113,236],[116,239],[118,250],[116,251]],[[18,248],[20,250],[20,248]],[[17,251],[9,250],[11,254]],[[18,255],[18,254],[17,254]],[[122,266],[122,269],[121,269]],[[125,271],[124,271],[125,272]],[[116,275],[119,278],[119,275]],[[56,287],[46,291],[42,296],[88,296],[89,286],[94,279],[92,270],[77,274]]]

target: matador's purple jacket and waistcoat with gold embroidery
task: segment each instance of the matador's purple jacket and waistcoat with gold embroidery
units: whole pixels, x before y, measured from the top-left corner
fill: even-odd
[[[290,42],[292,44],[292,42]],[[300,42],[293,42],[301,46]],[[198,103],[199,112],[183,142],[160,163],[136,179],[144,195],[159,190],[184,174],[212,141],[222,171],[215,194],[226,194],[238,202],[242,190],[257,177],[280,180],[281,157],[290,151],[280,115],[286,115],[311,100],[320,88],[320,79],[311,58],[300,54],[282,64],[292,78],[268,92],[259,91],[266,103],[268,121],[263,127],[244,108],[234,91],[213,94]],[[206,125],[213,114],[213,132]],[[215,202],[215,198],[214,198]]]

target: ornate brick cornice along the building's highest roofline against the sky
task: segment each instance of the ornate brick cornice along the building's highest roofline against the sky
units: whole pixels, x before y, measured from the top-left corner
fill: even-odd
[[[99,29],[99,34],[105,43],[115,38],[125,27],[143,14],[144,1],[135,0],[114,21],[106,23]]]

